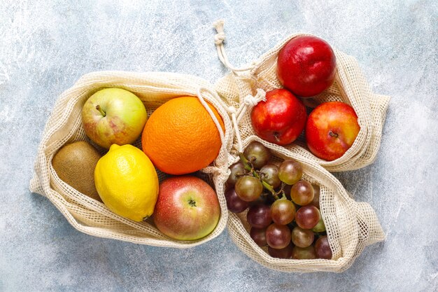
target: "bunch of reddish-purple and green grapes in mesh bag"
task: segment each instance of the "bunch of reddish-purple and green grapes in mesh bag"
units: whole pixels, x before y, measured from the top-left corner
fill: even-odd
[[[227,207],[233,213],[248,209],[250,237],[268,246],[275,258],[332,258],[320,216],[320,187],[302,180],[295,160],[269,162],[271,152],[253,141],[230,166]]]

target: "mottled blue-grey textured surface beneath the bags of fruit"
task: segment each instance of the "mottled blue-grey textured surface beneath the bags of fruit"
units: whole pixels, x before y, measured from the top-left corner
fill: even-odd
[[[0,291],[438,290],[436,1],[1,2]],[[392,97],[374,165],[337,174],[356,200],[372,204],[387,235],[344,273],[267,270],[226,231],[188,250],[90,237],[29,193],[62,91],[98,70],[214,82],[227,72],[213,45],[218,18],[237,66],[292,32],[310,32],[355,56],[373,90]]]

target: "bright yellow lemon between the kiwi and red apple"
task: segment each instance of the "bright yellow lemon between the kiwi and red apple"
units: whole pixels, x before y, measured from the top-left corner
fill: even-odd
[[[153,214],[158,176],[148,156],[132,145],[111,145],[94,169],[97,193],[115,214],[143,221]]]

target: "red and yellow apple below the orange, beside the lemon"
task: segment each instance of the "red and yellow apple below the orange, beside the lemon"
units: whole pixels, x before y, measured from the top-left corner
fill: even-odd
[[[218,197],[208,183],[195,176],[174,176],[160,184],[153,214],[158,230],[178,240],[209,235],[220,217]]]

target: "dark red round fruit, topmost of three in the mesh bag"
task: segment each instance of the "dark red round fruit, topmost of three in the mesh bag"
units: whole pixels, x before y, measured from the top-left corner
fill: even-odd
[[[297,36],[281,48],[277,76],[295,95],[311,97],[334,81],[336,57],[330,45],[316,36]]]

